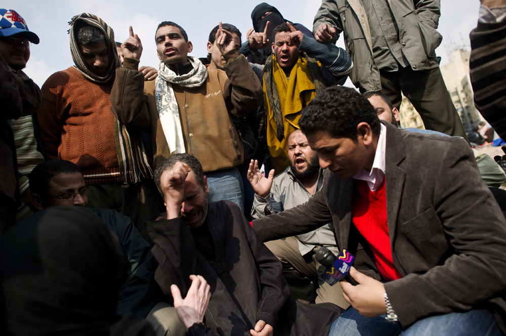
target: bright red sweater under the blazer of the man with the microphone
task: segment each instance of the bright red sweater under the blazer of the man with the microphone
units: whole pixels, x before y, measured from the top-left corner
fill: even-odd
[[[369,244],[383,278],[387,281],[401,278],[392,259],[388,235],[385,178],[376,191],[369,189],[367,181],[358,181],[353,195],[352,221]]]

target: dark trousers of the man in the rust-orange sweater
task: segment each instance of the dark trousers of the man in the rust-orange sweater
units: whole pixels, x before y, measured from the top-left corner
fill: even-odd
[[[132,218],[142,237],[149,242],[144,222],[158,216],[160,206],[156,189],[152,180],[144,180],[134,184],[107,183],[88,185],[88,207],[116,210],[122,215]]]

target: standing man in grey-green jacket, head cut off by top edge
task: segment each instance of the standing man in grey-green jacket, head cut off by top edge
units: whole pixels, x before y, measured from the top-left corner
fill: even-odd
[[[381,90],[398,109],[402,91],[425,128],[467,139],[435,53],[440,14],[440,0],[323,0],[313,33],[335,43],[344,31],[360,92]]]

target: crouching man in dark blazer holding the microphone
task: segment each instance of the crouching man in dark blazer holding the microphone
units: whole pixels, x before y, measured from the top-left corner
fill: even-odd
[[[328,168],[323,187],[303,205],[253,221],[262,241],[309,232],[332,220],[338,246],[357,257],[358,271],[352,268],[350,275],[359,285],[341,282],[344,297],[367,317],[357,323],[372,323],[371,330],[376,331],[371,334],[379,332],[374,323],[389,323],[377,317],[387,313],[389,321],[397,319],[403,334],[432,334],[423,331],[431,324],[424,322],[436,321],[434,327],[439,325],[434,318],[450,313],[457,313],[452,316],[463,333],[445,322],[447,329],[438,327],[435,334],[481,334],[473,329],[476,320],[488,321],[479,327],[483,332],[504,334],[506,220],[467,143],[381,125],[367,100],[346,87],[322,91],[303,110],[300,126],[318,152],[320,166]],[[378,146],[382,136],[383,153]],[[369,173],[381,155],[387,239],[393,267],[400,274],[388,282],[352,222],[358,184],[353,177],[363,169]],[[382,179],[378,174],[376,178]],[[342,316],[334,322],[336,327]]]

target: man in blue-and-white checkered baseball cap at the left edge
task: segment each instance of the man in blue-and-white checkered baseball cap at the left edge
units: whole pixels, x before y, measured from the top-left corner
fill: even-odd
[[[20,193],[20,190],[25,191],[28,186],[19,187],[25,181],[23,178],[18,181],[20,166],[16,157],[18,139],[15,129],[20,124],[31,123],[32,119],[29,115],[37,111],[43,104],[40,88],[21,71],[30,58],[30,42],[38,44],[39,38],[28,30],[21,15],[14,10],[0,9],[0,102],[2,102],[0,234],[14,224],[20,200],[22,196],[27,195]],[[22,155],[18,153],[18,157],[31,157],[37,147],[33,127],[31,130],[27,129],[24,138],[27,139],[25,142],[33,142],[34,146],[26,147],[32,149],[29,151],[29,156],[25,156],[25,153]]]

